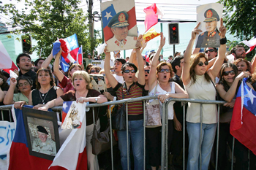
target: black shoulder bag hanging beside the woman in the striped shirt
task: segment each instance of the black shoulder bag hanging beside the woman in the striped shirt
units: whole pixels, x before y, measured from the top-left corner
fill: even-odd
[[[124,87],[125,88],[125,83]],[[124,93],[122,91],[122,98],[124,99]],[[122,104],[121,108],[118,109],[118,104],[116,104],[113,109],[112,119],[112,128],[117,131],[125,131],[127,130],[127,120],[126,120],[126,110],[125,105]]]

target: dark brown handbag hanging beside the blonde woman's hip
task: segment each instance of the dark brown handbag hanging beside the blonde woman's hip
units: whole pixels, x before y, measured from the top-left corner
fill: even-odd
[[[115,146],[116,145],[116,139],[113,136],[112,131],[110,131],[109,120],[108,120],[107,128],[105,129],[105,131],[102,131],[102,132],[97,131],[96,123],[94,123],[94,131],[93,131],[93,134],[92,134],[92,137],[91,137],[92,153],[94,155],[99,155],[102,152],[110,150],[110,148],[111,148],[110,135],[112,135],[112,144],[113,144],[113,146]]]

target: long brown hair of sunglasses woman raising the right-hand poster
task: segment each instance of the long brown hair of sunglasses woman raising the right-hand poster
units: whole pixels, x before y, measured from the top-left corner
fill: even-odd
[[[197,66],[197,64],[199,63],[200,58],[205,58],[206,61],[208,61],[208,58],[206,58],[206,55],[204,53],[198,53],[196,55],[192,55],[192,57],[190,58],[189,74],[192,79],[191,85],[194,84],[196,81],[195,66]],[[207,82],[210,82],[211,77],[208,75],[208,73],[206,72],[204,75],[205,75]]]

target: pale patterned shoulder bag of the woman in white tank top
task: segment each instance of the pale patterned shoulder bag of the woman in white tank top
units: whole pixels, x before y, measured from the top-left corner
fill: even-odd
[[[158,85],[158,82],[157,82]],[[154,95],[157,92],[157,85],[154,89]],[[145,106],[145,119],[146,128],[156,128],[162,125],[161,123],[161,114],[159,109],[159,100],[154,99],[150,103],[147,101]]]

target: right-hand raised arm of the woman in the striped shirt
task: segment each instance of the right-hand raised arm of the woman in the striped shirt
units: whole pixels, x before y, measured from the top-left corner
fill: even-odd
[[[140,48],[141,46],[141,40],[142,40],[142,35],[139,36],[139,39],[137,40],[136,43],[136,55],[137,55],[137,59],[138,59],[138,83],[140,83],[140,85],[145,85],[145,72],[144,72],[144,61],[142,58],[142,55],[140,53]]]

